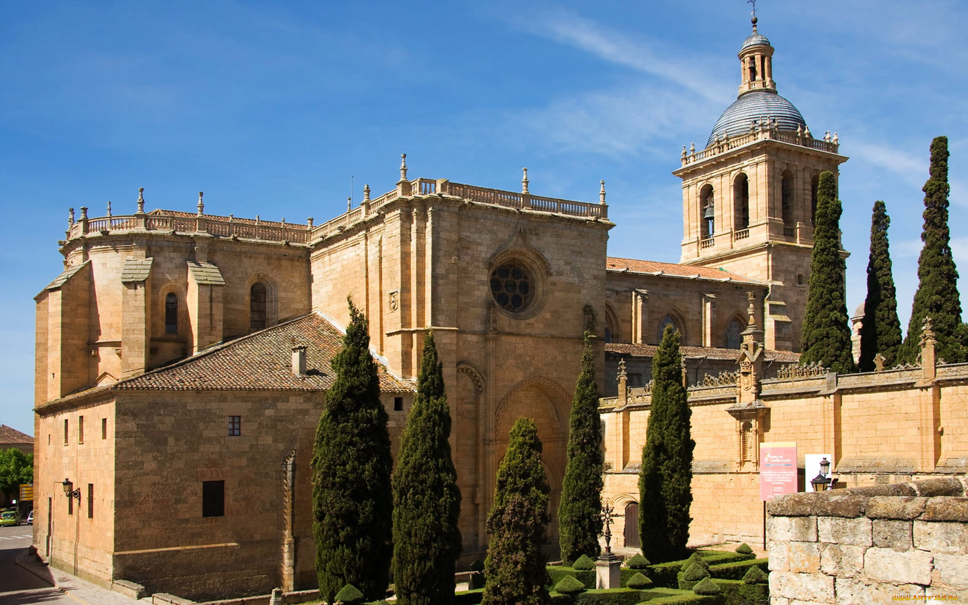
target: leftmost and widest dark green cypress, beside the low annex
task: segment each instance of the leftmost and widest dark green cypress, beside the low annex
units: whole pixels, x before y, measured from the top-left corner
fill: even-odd
[[[349,318],[313,448],[316,569],[319,592],[330,603],[347,584],[368,600],[382,598],[393,553],[387,414],[379,401],[368,321],[352,301]]]

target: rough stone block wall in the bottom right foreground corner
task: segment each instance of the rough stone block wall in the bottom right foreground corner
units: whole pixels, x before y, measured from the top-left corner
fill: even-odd
[[[966,478],[772,499],[771,605],[968,599]]]

